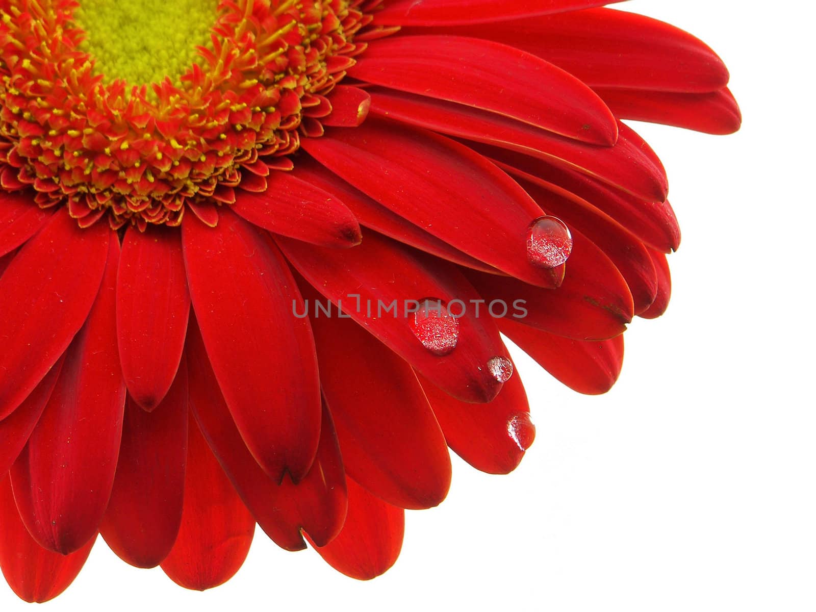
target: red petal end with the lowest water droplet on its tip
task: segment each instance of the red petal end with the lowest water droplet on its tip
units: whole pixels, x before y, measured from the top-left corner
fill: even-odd
[[[489,404],[468,404],[426,379],[421,382],[448,446],[459,457],[489,474],[517,468],[535,439],[521,376],[511,376]]]

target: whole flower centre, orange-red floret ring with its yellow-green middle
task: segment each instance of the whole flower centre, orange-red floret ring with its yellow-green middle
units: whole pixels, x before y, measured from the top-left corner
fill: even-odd
[[[0,188],[83,227],[217,219],[322,135],[361,2],[2,0]]]

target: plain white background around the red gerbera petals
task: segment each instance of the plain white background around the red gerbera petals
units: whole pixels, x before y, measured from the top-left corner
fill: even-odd
[[[48,609],[816,610],[813,20],[795,5],[621,5],[707,41],[744,126],[636,126],[683,228],[672,304],[632,324],[602,397],[514,353],[538,427],[517,472],[455,458],[446,502],[408,513],[400,561],[370,583],[259,531],[231,582],[186,592],[100,540]],[[26,609],[2,581],[0,609]]]

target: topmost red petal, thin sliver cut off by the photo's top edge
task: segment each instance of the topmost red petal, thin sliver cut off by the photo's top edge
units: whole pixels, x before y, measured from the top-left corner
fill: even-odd
[[[375,23],[393,25],[478,24],[601,7],[621,0],[397,0],[375,14]]]

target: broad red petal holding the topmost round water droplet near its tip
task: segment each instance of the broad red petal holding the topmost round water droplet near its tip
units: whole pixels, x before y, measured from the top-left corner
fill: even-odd
[[[462,144],[371,119],[354,130],[304,141],[304,148],[383,206],[459,251],[535,285],[561,281],[561,274],[535,266],[527,255],[530,225],[543,215],[541,209],[508,175]]]

